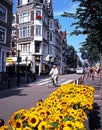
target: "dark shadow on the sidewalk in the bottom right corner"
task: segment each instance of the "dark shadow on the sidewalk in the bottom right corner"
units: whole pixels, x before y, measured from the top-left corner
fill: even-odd
[[[97,103],[94,103],[94,109],[89,114],[89,127],[90,130],[101,130],[100,106]]]

